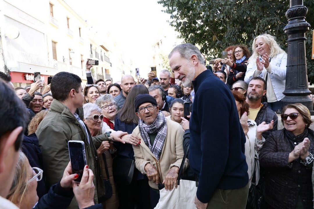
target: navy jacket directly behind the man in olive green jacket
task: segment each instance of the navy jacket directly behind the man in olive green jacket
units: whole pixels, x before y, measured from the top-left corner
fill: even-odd
[[[39,148],[38,138],[35,133],[28,136],[24,135],[22,142],[22,151],[26,155],[31,167],[38,167],[43,169],[42,153]],[[43,179],[37,182],[37,195],[41,198],[45,195],[45,173],[43,174]]]

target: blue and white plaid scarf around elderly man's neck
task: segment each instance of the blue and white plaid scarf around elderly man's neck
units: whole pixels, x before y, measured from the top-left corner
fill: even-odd
[[[140,119],[138,121],[138,128],[146,146],[149,147],[149,150],[155,155],[157,160],[159,160],[167,135],[167,123],[164,114],[162,112],[158,112],[156,120],[150,125],[146,125],[143,123],[143,120]],[[152,146],[150,144],[149,133],[156,132],[157,136]]]

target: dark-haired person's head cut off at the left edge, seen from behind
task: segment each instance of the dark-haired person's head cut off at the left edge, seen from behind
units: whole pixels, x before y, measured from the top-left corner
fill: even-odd
[[[10,81],[0,78],[0,208],[18,208],[5,199],[12,186],[28,112]]]

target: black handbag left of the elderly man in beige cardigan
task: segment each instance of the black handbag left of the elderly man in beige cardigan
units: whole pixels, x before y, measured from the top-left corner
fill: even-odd
[[[135,159],[116,157],[113,159],[112,169],[116,183],[130,185],[135,169]]]

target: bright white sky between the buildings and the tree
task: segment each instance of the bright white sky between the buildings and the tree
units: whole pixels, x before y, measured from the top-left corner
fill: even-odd
[[[152,44],[158,34],[170,28],[169,14],[157,0],[66,0],[79,15],[106,24],[123,52],[140,68],[149,66]],[[87,12],[88,11],[88,12]],[[149,53],[148,53],[149,52]],[[144,69],[143,69],[144,70]]]

